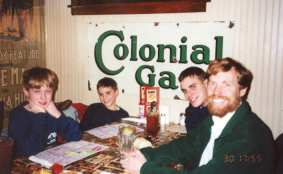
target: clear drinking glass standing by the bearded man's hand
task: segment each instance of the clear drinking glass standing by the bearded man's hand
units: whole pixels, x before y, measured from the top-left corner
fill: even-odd
[[[118,145],[121,152],[132,152],[136,139],[136,129],[132,126],[120,126],[118,133]]]

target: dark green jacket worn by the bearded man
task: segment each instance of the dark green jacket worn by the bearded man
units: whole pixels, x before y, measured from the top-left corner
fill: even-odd
[[[273,136],[263,121],[243,101],[215,140],[213,157],[198,166],[209,138],[212,118],[205,119],[187,136],[158,148],[144,148],[147,159],[141,174],[272,174],[274,163]],[[182,164],[176,170],[172,164]]]

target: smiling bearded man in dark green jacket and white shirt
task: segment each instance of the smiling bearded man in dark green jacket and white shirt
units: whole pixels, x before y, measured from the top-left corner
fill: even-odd
[[[129,173],[141,174],[271,174],[274,144],[268,126],[246,101],[252,73],[238,61],[213,61],[208,74],[208,110],[183,138],[158,148],[126,154]]]

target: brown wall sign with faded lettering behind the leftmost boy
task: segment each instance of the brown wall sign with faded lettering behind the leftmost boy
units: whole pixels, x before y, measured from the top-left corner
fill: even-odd
[[[43,0],[0,1],[0,100],[5,111],[24,101],[23,71],[45,66]]]

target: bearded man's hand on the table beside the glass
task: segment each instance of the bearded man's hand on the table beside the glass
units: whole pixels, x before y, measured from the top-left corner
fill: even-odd
[[[142,165],[146,162],[145,157],[139,150],[134,152],[125,153],[125,159],[121,160],[121,164],[130,174],[139,174]]]

